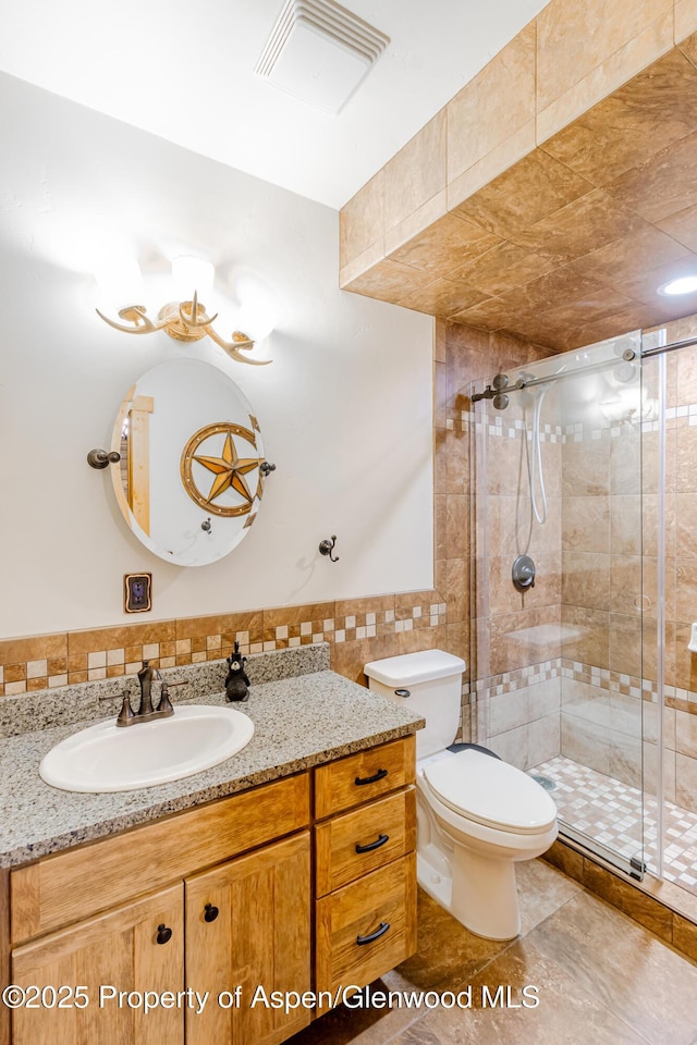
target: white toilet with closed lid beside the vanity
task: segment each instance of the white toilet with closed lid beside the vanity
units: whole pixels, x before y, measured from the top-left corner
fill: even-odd
[[[478,936],[521,931],[515,868],[557,838],[557,807],[522,770],[473,747],[449,751],[465,662],[425,650],[365,665],[370,689],[426,718],[416,734],[417,877]]]

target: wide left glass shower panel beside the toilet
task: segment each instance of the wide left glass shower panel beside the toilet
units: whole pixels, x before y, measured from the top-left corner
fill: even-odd
[[[639,349],[626,335],[492,378],[476,403],[472,455],[479,742],[550,789],[563,833],[635,875]]]

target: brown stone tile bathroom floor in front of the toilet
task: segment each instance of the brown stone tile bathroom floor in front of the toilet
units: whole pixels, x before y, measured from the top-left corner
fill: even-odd
[[[292,1045],[697,1045],[695,964],[549,864],[517,871],[516,939],[472,935],[419,890],[418,952],[372,985],[470,986],[470,1008],[340,1006]],[[500,986],[511,1004],[485,1004]],[[538,988],[536,1008],[521,1005],[526,986]]]

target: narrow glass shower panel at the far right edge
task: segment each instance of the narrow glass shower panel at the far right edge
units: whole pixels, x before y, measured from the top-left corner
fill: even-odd
[[[650,870],[697,893],[697,317],[647,332],[645,779]],[[680,345],[665,353],[662,346]]]

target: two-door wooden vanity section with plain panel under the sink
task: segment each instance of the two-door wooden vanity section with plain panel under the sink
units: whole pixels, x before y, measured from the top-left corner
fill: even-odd
[[[310,987],[309,783],[266,784],[13,871],[10,982],[81,986],[88,1005],[14,1010],[12,1045],[276,1045],[309,1022],[308,1009],[248,1008],[259,984]],[[100,1007],[109,984],[209,996],[199,1015],[186,999],[145,1015]],[[242,1004],[224,1010],[218,994],[237,984]]]

